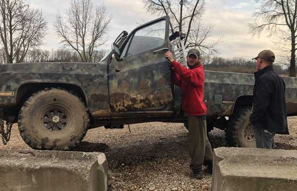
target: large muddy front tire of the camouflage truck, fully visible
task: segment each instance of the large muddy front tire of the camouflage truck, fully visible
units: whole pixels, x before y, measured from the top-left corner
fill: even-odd
[[[50,130],[44,124],[43,116],[52,108],[65,113],[67,123],[61,130]],[[86,106],[79,97],[66,90],[50,88],[33,94],[23,104],[18,127],[23,140],[33,149],[70,150],[86,135],[89,121]]]

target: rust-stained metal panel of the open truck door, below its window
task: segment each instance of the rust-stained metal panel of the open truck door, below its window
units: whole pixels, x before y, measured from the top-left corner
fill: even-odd
[[[111,62],[109,66],[111,112],[162,110],[173,106],[167,63],[153,62],[163,60],[162,55],[151,55],[151,53],[143,55],[145,58],[152,56],[155,58],[145,59],[147,62],[141,62],[133,56],[123,62]],[[122,70],[116,73],[115,68]]]

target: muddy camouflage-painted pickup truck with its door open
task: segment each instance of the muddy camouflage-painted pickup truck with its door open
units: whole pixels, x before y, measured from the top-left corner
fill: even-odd
[[[129,35],[122,32],[99,63],[2,64],[1,129],[4,120],[18,123],[32,148],[67,150],[94,127],[184,123],[180,89],[171,83],[163,57],[168,49],[172,47],[165,16]],[[288,116],[297,115],[297,78],[284,80]],[[231,145],[255,146],[248,125],[253,85],[252,74],[205,71],[208,128],[225,129]]]

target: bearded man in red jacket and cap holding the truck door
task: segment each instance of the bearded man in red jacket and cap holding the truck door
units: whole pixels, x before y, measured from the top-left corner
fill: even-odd
[[[182,88],[182,109],[188,114],[189,150],[193,177],[202,179],[202,164],[207,165],[212,172],[212,149],[207,139],[206,106],[204,95],[204,69],[201,64],[200,53],[197,49],[188,52],[187,64],[182,66],[173,59],[171,52],[164,54],[173,68],[172,81]]]

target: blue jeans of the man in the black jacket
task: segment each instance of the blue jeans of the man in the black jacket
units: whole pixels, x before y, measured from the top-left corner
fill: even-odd
[[[257,148],[273,148],[275,132],[253,126]]]

